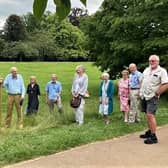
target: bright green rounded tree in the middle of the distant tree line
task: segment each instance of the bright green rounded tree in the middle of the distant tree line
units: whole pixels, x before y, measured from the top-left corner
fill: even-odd
[[[88,59],[83,32],[67,21],[63,21],[55,27],[55,44],[60,49],[60,57],[65,60]]]

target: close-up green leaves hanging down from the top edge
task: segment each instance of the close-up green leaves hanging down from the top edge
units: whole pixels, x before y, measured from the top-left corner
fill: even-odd
[[[60,20],[66,18],[71,9],[70,0],[53,0],[56,5],[56,13]],[[80,0],[86,6],[86,0]],[[34,0],[33,3],[33,13],[35,17],[39,20],[46,9],[48,0]]]

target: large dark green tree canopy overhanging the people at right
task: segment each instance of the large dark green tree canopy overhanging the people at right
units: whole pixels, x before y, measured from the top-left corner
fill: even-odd
[[[131,62],[143,69],[154,53],[168,68],[167,9],[167,0],[105,0],[101,11],[81,23],[91,57],[113,77]]]

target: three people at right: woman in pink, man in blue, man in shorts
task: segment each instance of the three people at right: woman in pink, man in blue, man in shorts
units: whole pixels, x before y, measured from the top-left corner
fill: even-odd
[[[127,70],[122,71],[122,79],[118,85],[120,110],[124,113],[124,121],[140,121],[139,103],[141,111],[146,114],[148,130],[140,135],[140,138],[145,138],[145,144],[158,142],[155,113],[160,95],[168,89],[167,71],[160,67],[159,61],[159,56],[151,55],[149,66],[142,74],[135,64],[130,64],[130,75]]]

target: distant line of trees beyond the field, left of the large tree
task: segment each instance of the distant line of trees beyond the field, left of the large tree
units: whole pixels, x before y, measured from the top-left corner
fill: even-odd
[[[88,61],[84,33],[68,20],[46,12],[7,18],[0,33],[0,61]]]

